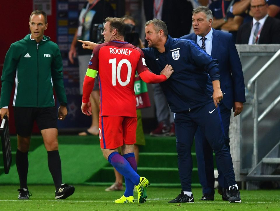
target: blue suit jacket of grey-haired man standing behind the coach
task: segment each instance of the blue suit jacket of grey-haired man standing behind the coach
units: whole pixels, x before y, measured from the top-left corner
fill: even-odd
[[[195,33],[180,38],[197,41]],[[242,66],[232,34],[213,29],[211,56],[219,62],[224,105],[231,109],[233,102],[245,102]]]

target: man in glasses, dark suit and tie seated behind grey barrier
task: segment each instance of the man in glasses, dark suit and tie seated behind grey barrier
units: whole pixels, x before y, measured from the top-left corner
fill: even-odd
[[[244,23],[237,32],[237,44],[280,43],[280,20],[268,16],[265,0],[251,0],[253,21]]]

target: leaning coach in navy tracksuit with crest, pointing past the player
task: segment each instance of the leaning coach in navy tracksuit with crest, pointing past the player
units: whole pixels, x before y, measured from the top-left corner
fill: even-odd
[[[166,64],[173,67],[171,77],[160,83],[171,111],[174,112],[178,169],[182,191],[170,203],[193,202],[191,192],[191,146],[200,126],[213,148],[218,165],[230,189],[229,202],[241,202],[235,181],[232,158],[225,146],[223,124],[217,103],[223,98],[217,60],[192,40],[173,39],[161,20],[145,24],[150,48],[142,49],[147,66],[155,73]],[[214,102],[213,102],[214,101]]]

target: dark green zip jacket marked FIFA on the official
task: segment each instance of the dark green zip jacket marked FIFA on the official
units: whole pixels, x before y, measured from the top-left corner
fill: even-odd
[[[60,50],[47,36],[37,44],[31,34],[27,34],[24,39],[11,44],[1,82],[0,108],[9,105],[14,82],[13,106],[53,107],[53,88],[59,102],[67,103]]]

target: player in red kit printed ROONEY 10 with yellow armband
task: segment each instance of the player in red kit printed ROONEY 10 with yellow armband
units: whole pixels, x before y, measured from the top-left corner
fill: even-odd
[[[125,24],[122,19],[106,18],[105,22],[105,43],[98,45],[92,52],[83,84],[81,109],[85,115],[91,115],[89,96],[98,72],[101,150],[111,165],[125,177],[125,193],[115,203],[134,203],[134,185],[138,192],[138,203],[144,203],[149,181],[136,173],[134,156],[137,126],[135,73],[137,70],[146,83],[160,83],[166,81],[173,70],[171,65],[166,65],[161,75],[150,72],[141,49],[124,41]],[[122,155],[118,153],[118,147],[121,147]]]

